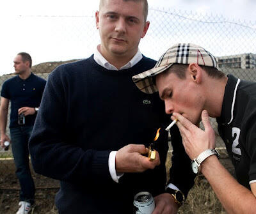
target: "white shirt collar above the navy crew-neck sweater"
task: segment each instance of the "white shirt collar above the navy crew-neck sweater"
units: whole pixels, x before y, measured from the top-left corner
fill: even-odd
[[[100,53],[99,51],[100,45],[97,46],[97,49],[95,50],[95,53],[93,55],[93,59],[98,63],[100,66],[108,69],[108,70],[118,70],[115,66],[111,65]],[[119,70],[124,70],[127,68],[131,68],[132,66],[136,65],[140,60],[142,59],[142,54],[140,50],[132,57],[132,59],[126,63],[124,66],[122,66]]]

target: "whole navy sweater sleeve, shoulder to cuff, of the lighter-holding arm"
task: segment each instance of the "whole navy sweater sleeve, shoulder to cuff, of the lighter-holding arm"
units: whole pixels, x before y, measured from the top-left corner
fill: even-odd
[[[67,78],[63,77],[60,70],[57,68],[49,75],[40,111],[29,139],[29,151],[35,172],[62,181],[113,182],[108,169],[111,151],[84,151],[70,137],[67,138],[68,111],[76,109],[67,108]]]

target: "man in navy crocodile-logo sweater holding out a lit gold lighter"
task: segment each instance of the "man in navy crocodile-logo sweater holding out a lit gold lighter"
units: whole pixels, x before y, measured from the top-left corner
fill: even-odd
[[[178,129],[172,130],[168,191],[168,132],[160,131],[156,160],[147,157],[157,128],[170,121],[157,93],[142,93],[131,79],[156,63],[138,49],[147,13],[147,0],[100,1],[95,54],[49,75],[29,149],[35,171],[61,181],[61,214],[132,213],[141,191],[154,196],[154,213],[177,213],[183,199],[176,194],[186,196],[193,186]]]

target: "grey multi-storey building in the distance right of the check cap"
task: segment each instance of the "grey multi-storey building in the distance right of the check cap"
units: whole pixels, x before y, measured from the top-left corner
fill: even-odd
[[[256,68],[256,54],[237,54],[216,57],[220,68]]]

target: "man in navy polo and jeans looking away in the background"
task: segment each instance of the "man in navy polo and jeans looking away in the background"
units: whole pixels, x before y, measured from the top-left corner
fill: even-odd
[[[1,91],[0,131],[1,146],[11,142],[12,153],[20,183],[20,203],[17,214],[25,214],[35,203],[35,185],[29,169],[28,141],[33,130],[46,81],[31,73],[32,60],[26,52],[20,52],[13,60],[15,77],[4,82]],[[9,102],[10,137],[6,135]]]

